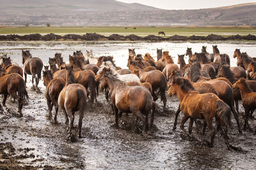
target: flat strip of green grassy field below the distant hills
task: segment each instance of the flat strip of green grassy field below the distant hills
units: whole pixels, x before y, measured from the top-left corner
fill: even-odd
[[[182,36],[218,34],[221,36],[230,35],[256,35],[256,27],[0,27],[0,34],[86,34],[86,32],[97,32],[104,36],[111,34],[138,36],[157,35],[157,32],[164,31],[166,36],[175,34]]]

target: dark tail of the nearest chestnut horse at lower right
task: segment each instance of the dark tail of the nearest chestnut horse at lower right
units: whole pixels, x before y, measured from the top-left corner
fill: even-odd
[[[217,101],[217,113],[216,117],[218,118],[217,124],[220,124],[220,122],[224,122],[225,124],[230,124],[230,115],[231,115],[231,109],[223,101]]]

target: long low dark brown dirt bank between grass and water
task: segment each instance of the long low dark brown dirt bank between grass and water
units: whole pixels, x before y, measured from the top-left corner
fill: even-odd
[[[17,34],[10,34],[6,36],[0,36],[0,41],[225,41],[225,40],[246,40],[255,41],[256,36],[248,34],[247,36],[228,36],[223,37],[216,34],[210,34],[208,36],[179,36],[174,35],[170,37],[154,36],[149,35],[144,38],[131,34],[129,36],[122,36],[118,34],[112,34],[111,36],[102,36],[97,33],[86,33],[83,36],[77,34],[66,34],[65,36],[60,36],[56,34],[46,34],[42,36],[41,34],[28,34],[24,36],[19,36]]]

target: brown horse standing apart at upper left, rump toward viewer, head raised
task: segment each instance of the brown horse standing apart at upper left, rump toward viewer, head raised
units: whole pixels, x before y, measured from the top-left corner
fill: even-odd
[[[41,78],[41,71],[43,68],[43,62],[38,57],[32,57],[29,50],[22,50],[22,64],[24,66],[25,83],[27,82],[27,74],[32,75],[32,85],[34,86],[34,78],[36,80],[36,89],[38,89],[38,83]]]

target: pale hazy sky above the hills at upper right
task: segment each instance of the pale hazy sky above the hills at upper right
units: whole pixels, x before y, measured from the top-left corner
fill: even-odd
[[[141,3],[148,6],[166,10],[193,10],[201,8],[214,8],[241,3],[256,3],[256,1],[245,0],[117,0],[124,3]]]

